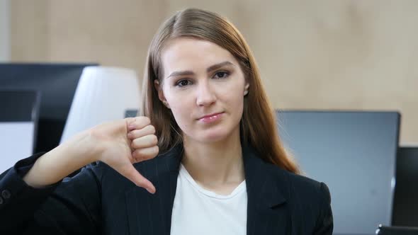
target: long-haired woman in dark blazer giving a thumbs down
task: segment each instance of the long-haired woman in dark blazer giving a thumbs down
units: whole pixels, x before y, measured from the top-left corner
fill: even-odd
[[[144,85],[139,117],[81,132],[1,176],[1,229],[332,234],[329,190],[286,156],[254,57],[225,18],[198,9],[169,18]]]

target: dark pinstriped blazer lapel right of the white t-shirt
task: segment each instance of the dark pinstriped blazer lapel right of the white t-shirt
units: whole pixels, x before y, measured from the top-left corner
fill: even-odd
[[[251,147],[243,147],[247,183],[247,235],[290,234],[287,183],[281,169],[266,164]]]

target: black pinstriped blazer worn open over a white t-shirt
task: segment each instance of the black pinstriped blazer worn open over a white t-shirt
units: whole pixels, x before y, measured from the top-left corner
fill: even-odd
[[[332,234],[327,185],[268,164],[251,147],[242,150],[247,234]],[[175,147],[134,165],[155,185],[154,195],[101,162],[48,188],[34,189],[21,176],[42,154],[18,161],[0,176],[0,192],[9,193],[0,204],[0,231],[168,235],[182,151]]]

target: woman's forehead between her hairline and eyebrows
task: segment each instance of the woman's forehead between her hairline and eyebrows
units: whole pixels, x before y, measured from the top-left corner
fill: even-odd
[[[219,45],[196,38],[169,40],[162,50],[164,74],[177,70],[197,71],[213,64],[229,61],[238,65],[235,57]]]

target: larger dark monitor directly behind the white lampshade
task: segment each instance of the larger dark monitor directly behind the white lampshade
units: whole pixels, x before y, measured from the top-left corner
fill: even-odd
[[[60,143],[81,72],[92,65],[97,64],[0,63],[0,88],[40,91],[35,152],[49,151]]]

